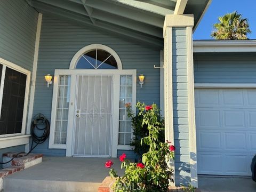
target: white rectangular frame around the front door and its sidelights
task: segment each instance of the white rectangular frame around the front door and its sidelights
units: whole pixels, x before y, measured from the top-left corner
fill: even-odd
[[[67,142],[66,144],[54,144],[54,129],[55,117],[57,107],[57,94],[58,94],[58,79],[60,75],[70,75],[70,98],[69,98],[69,111],[68,111],[68,129],[67,129]],[[120,76],[132,75],[132,110],[135,111],[136,105],[136,91],[137,91],[137,70],[136,69],[55,69],[53,81],[53,100],[52,100],[52,115],[49,148],[66,149],[66,156],[73,155],[73,138],[74,138],[74,123],[75,123],[75,102],[76,97],[76,77],[77,75],[113,75],[113,130],[111,134],[111,157],[117,156],[117,150],[131,150],[129,145],[118,145],[119,136],[119,96],[120,96]],[[133,137],[133,135],[132,135]]]

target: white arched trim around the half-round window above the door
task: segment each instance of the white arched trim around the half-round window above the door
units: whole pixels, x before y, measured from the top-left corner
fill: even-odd
[[[111,49],[110,47],[106,46],[106,45],[102,45],[102,44],[91,44],[91,45],[87,45],[85,47],[83,47],[81,50],[79,50],[74,57],[72,58],[71,62],[70,62],[70,66],[69,69],[75,69],[76,68],[76,64],[77,61],[82,57],[82,55],[84,53],[87,53],[89,51],[95,50],[95,49],[100,49],[100,50],[104,50],[109,52],[111,55],[113,55],[113,57],[116,60],[117,63],[117,68],[118,69],[123,69],[122,68],[122,62],[121,59],[119,58],[118,54]]]

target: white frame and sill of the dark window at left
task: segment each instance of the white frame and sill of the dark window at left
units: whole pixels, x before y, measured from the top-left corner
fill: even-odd
[[[21,133],[0,135],[0,148],[24,145],[24,144],[29,143],[29,137],[30,137],[30,135],[25,135],[27,110],[28,110],[28,96],[29,96],[29,88],[30,88],[29,87],[30,86],[30,71],[27,69],[24,69],[10,61],[7,61],[3,58],[0,58],[0,64],[3,65],[2,74],[1,74],[2,75],[1,86],[0,86],[0,116],[1,116],[1,111],[2,111],[2,100],[3,100],[6,67],[13,69],[15,71],[18,71],[20,73],[23,73],[27,76]],[[7,140],[9,140],[10,142],[7,142]]]

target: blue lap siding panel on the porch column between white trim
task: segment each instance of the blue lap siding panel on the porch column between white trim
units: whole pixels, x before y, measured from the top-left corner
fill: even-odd
[[[173,126],[176,185],[190,181],[187,39],[185,27],[172,28]]]

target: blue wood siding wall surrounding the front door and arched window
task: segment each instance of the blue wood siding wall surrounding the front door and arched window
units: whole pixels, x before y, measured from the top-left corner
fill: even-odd
[[[159,106],[159,66],[160,50],[140,43],[111,35],[107,31],[82,27],[74,23],[43,15],[39,44],[38,69],[35,88],[34,115],[44,114],[50,121],[53,86],[49,89],[45,74],[54,74],[54,69],[69,69],[74,54],[90,44],[103,44],[115,50],[121,58],[123,69],[137,69],[137,74],[145,75],[145,83],[140,88],[137,82],[137,100]],[[65,150],[48,149],[48,142],[38,146],[35,153],[45,155],[65,155]]]

